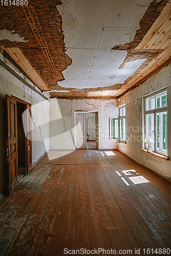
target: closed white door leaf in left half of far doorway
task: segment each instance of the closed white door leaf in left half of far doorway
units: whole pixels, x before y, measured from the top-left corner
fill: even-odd
[[[75,114],[76,148],[86,148],[86,113]]]

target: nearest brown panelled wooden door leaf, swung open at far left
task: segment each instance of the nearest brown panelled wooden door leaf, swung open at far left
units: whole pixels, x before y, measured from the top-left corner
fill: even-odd
[[[17,183],[17,116],[16,99],[6,95],[7,104],[7,182],[8,193]]]

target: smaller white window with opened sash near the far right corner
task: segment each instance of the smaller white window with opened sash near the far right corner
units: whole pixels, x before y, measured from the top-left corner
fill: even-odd
[[[119,117],[110,118],[110,138],[119,139],[119,142],[125,142],[126,139],[126,122],[125,106],[119,108]]]

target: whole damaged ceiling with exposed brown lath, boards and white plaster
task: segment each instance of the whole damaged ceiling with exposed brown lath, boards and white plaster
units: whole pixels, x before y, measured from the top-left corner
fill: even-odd
[[[2,53],[52,98],[119,97],[171,58],[167,1],[29,0],[0,13]]]

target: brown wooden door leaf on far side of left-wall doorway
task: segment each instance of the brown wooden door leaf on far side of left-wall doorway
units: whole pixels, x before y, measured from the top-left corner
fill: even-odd
[[[30,168],[32,165],[32,119],[31,119],[31,109],[30,105],[26,104],[25,105],[25,127],[26,127],[26,159],[27,159],[27,174],[30,172]]]

